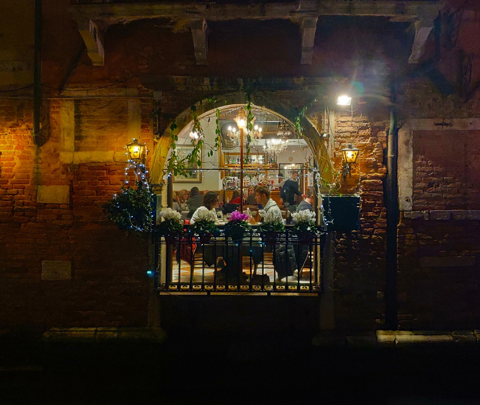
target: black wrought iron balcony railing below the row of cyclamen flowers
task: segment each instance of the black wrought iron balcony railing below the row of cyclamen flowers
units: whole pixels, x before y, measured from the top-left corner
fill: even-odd
[[[252,226],[251,235],[233,241],[223,226],[219,229],[219,234],[201,240],[186,225],[183,236],[166,241],[154,226],[157,289],[206,294],[321,291],[324,234],[299,240],[287,226],[272,238]]]

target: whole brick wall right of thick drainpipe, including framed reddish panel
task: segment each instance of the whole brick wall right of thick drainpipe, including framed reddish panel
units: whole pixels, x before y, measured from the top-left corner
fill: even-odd
[[[480,97],[442,97],[425,78],[404,83],[401,119],[480,116]],[[413,131],[413,211],[398,240],[400,329],[473,329],[480,323],[479,131]],[[402,145],[399,145],[400,153]]]

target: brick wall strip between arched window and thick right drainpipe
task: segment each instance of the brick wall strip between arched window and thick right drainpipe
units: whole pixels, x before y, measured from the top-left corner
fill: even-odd
[[[381,116],[379,114],[379,116]],[[385,115],[385,117],[387,117]],[[354,119],[358,128],[360,119]],[[359,130],[351,117],[341,114],[335,121],[336,167],[338,149],[353,143],[360,149],[357,168],[342,182],[340,192],[359,193],[360,230],[337,232],[334,289],[336,328],[343,330],[381,329],[384,324],[386,211],[384,207],[386,126],[364,117]]]

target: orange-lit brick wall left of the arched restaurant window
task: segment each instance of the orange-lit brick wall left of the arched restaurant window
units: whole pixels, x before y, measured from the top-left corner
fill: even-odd
[[[75,149],[121,151],[126,103],[78,102]],[[150,101],[142,107],[142,140],[151,143]],[[0,100],[0,325],[145,325],[148,239],[120,231],[101,209],[125,163],[62,163],[59,109],[50,103],[48,140],[37,147],[31,103]],[[52,185],[67,186],[67,202],[37,202],[39,187]],[[42,280],[42,261],[71,262],[72,279]]]

